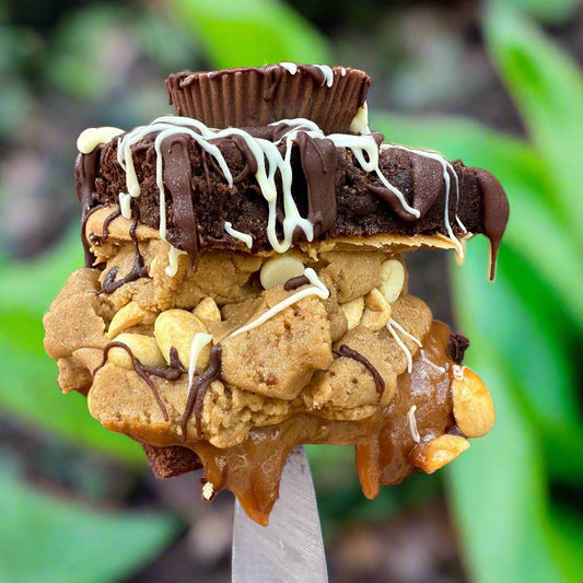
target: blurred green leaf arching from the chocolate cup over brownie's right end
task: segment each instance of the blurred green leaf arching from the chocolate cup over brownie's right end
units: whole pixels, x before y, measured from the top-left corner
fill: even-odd
[[[451,160],[492,172],[510,200],[504,242],[545,279],[573,323],[583,329],[583,263],[567,221],[549,202],[552,185],[541,159],[526,143],[460,118],[423,119],[374,112],[372,127],[396,143],[430,148]],[[581,198],[581,197],[580,197]],[[503,250],[501,253],[503,259]],[[503,260],[501,260],[501,264]]]

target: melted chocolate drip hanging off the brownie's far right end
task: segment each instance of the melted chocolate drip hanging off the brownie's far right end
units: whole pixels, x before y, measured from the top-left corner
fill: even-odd
[[[502,185],[489,172],[475,168],[482,194],[483,234],[490,240],[490,281],[495,277],[500,241],[509,222],[510,206]]]

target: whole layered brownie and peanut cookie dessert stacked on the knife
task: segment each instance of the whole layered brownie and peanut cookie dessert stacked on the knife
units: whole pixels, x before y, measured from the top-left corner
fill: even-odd
[[[202,467],[206,498],[230,489],[263,524],[296,444],[354,445],[372,498],[487,433],[468,340],[408,294],[403,255],[482,233],[493,278],[498,180],[370,131],[362,71],[166,84],[178,115],[80,136],[86,263],[45,317],[61,389],[156,475]]]

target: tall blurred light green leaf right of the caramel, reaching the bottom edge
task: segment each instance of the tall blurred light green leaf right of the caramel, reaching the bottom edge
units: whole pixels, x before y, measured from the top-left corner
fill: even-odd
[[[517,318],[512,314],[517,304],[509,285],[500,281],[488,285],[474,249],[465,269],[454,271],[453,288],[458,319],[471,338],[467,363],[479,371],[497,407],[491,433],[473,442],[447,470],[471,579],[527,582],[536,573],[539,581],[561,581],[564,565],[548,530],[541,448],[536,425],[523,406],[524,395],[537,388],[555,392],[555,386],[525,386],[521,373],[532,362],[523,366],[506,354],[514,342],[523,347],[523,357],[529,355],[539,337],[527,336],[533,330],[524,314]],[[553,355],[543,354],[536,371],[551,375],[552,368]],[[549,398],[557,405],[552,395]]]

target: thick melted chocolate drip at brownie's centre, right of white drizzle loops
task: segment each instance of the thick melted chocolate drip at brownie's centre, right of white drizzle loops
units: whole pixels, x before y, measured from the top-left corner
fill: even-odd
[[[336,224],[336,145],[331,140],[311,138],[305,131],[298,133],[295,143],[307,185],[307,220],[317,238]]]

